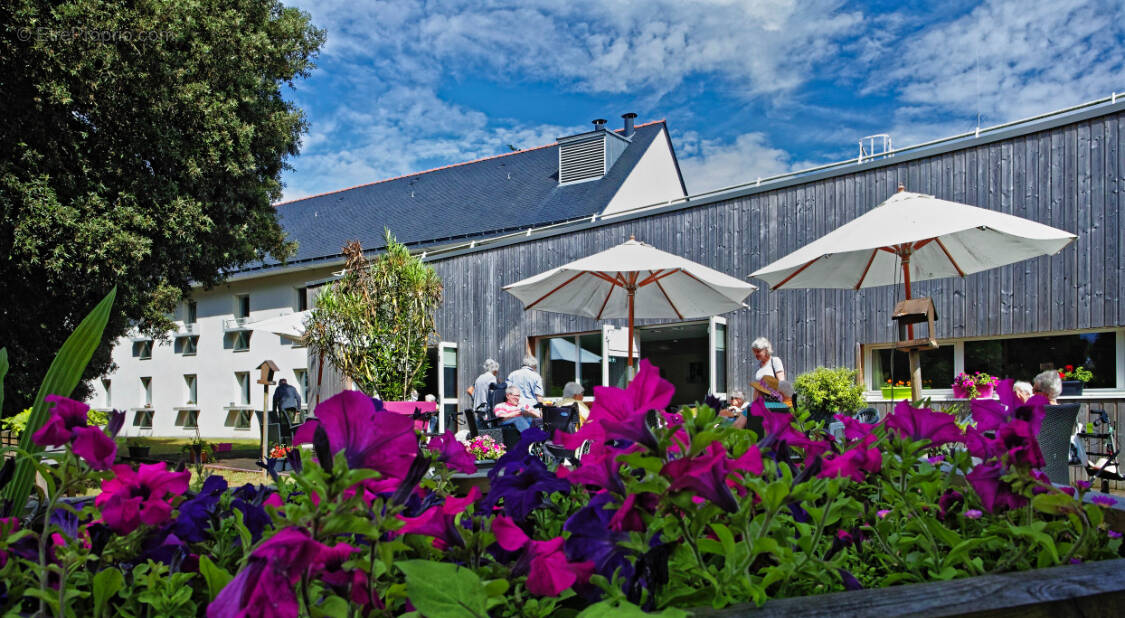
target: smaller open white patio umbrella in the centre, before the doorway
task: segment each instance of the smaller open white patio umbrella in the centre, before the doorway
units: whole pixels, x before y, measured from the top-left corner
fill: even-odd
[[[629,319],[632,368],[634,317],[708,317],[742,308],[757,286],[681,258],[633,236],[628,242],[504,289],[524,310],[540,310],[594,320]]]

